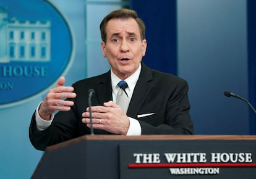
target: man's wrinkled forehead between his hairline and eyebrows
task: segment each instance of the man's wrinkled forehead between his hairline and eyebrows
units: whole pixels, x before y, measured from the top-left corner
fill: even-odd
[[[134,33],[135,35],[140,35],[139,25],[135,19],[111,19],[106,25],[106,33],[108,35],[113,35],[114,33]]]

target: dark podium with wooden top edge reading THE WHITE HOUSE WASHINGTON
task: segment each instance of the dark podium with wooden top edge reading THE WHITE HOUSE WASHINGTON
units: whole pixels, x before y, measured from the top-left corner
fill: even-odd
[[[256,178],[256,136],[87,135],[46,148],[32,178]]]

